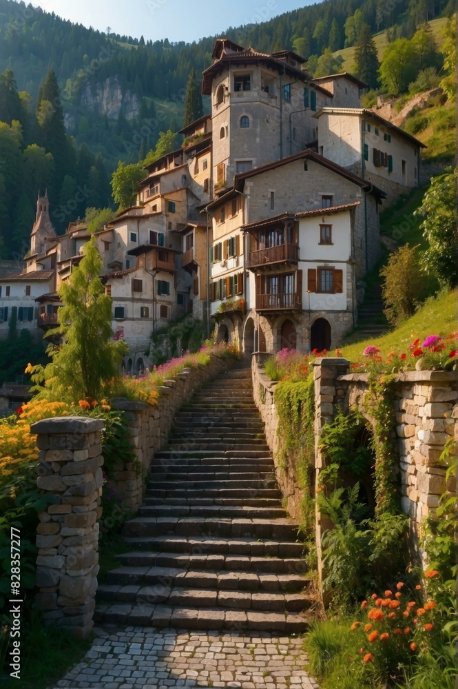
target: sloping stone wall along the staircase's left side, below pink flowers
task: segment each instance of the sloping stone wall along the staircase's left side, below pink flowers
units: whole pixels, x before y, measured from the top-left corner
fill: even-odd
[[[124,398],[113,400],[113,409],[125,412],[134,459],[116,464],[108,483],[121,495],[127,511],[136,512],[142,504],[149,466],[154,453],[166,444],[178,409],[191,399],[196,389],[234,363],[231,358],[211,355],[207,366],[183,369],[176,378],[166,380],[163,387],[158,388],[156,407]]]

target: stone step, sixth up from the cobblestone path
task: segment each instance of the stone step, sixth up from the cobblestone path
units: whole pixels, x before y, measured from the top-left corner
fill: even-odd
[[[298,537],[299,524],[291,519],[225,519],[224,517],[135,517],[125,522],[125,536],[250,536],[291,539]]]

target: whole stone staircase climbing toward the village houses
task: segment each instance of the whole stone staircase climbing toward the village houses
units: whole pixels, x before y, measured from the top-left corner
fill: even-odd
[[[220,374],[178,411],[123,537],[132,552],[98,587],[99,622],[306,628],[304,544],[282,508],[249,369]]]

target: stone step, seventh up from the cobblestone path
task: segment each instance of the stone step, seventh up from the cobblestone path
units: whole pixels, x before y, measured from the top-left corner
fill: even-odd
[[[240,519],[282,519],[282,507],[233,505],[145,505],[140,507],[141,517],[238,517]]]

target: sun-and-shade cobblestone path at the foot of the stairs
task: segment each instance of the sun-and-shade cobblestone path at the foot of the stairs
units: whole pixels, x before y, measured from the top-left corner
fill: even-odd
[[[314,689],[300,637],[127,627],[96,629],[92,648],[54,689]]]

